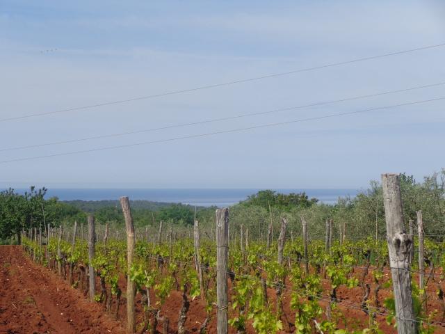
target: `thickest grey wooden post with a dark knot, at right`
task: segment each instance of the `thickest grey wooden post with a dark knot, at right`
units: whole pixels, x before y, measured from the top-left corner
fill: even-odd
[[[398,334],[414,334],[416,318],[411,293],[411,248],[412,237],[403,230],[403,209],[400,177],[397,174],[382,174],[383,204],[387,224],[389,264],[396,301]]]

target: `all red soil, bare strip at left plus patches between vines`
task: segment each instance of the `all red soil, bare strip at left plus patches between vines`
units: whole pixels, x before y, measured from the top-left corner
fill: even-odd
[[[76,273],[74,273],[76,276]],[[355,273],[357,277],[360,272]],[[387,280],[389,275],[385,278]],[[416,279],[416,278],[415,278]],[[76,277],[74,278],[76,280]],[[366,283],[371,284],[373,289],[371,274],[366,276]],[[120,301],[120,321],[114,321],[111,316],[104,311],[104,305],[90,303],[80,291],[73,289],[63,278],[57,276],[53,271],[34,264],[25,255],[20,246],[0,246],[0,333],[124,333],[126,307],[125,290],[126,282],[120,279],[122,289],[122,299]],[[428,287],[429,310],[442,310],[442,305],[435,296],[435,286],[442,283],[432,283]],[[323,280],[323,285],[327,289],[327,282]],[[231,284],[229,283],[229,292]],[[442,287],[444,288],[444,287]],[[99,282],[97,281],[96,291],[99,292]],[[325,290],[327,291],[327,290]],[[380,291],[380,301],[389,296],[390,289]],[[353,303],[355,307],[362,301],[362,289],[339,288],[337,297],[341,301],[338,305],[342,317],[338,319],[339,328],[366,328],[369,326],[369,317],[362,310],[357,308],[347,308],[348,303]],[[156,304],[156,297],[151,293],[152,305]],[[268,289],[268,299],[271,305],[275,305],[275,290]],[[287,319],[293,322],[295,312],[290,308],[291,292],[283,291],[284,312]],[[371,296],[371,305],[373,297]],[[170,319],[170,333],[177,333],[177,321],[181,308],[181,294],[172,291],[170,296],[162,305],[160,315]],[[327,302],[321,301],[323,308]],[[207,317],[204,301],[195,299],[191,301],[187,313],[186,329],[187,333],[198,333],[199,328]],[[116,302],[113,300],[111,310],[115,310]],[[213,310],[211,321],[207,326],[207,333],[216,333],[216,312]],[[441,312],[439,314],[442,315]],[[229,307],[229,318],[233,317],[232,308]],[[377,317],[380,329],[384,333],[396,333],[393,326],[386,324],[385,317]],[[442,317],[437,316],[435,320],[441,321]],[[138,332],[143,323],[143,308],[141,307],[140,296],[136,296],[136,323]],[[157,330],[161,331],[161,324]],[[248,334],[255,333],[251,324],[248,324]],[[282,333],[294,333],[295,328],[284,325],[286,331]],[[229,327],[229,333],[234,334],[234,328]],[[445,333],[445,328],[435,327],[435,333]]]

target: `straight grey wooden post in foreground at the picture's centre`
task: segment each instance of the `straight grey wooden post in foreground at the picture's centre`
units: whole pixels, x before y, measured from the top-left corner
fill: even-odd
[[[216,210],[216,331],[227,334],[227,253],[229,232],[229,209]]]

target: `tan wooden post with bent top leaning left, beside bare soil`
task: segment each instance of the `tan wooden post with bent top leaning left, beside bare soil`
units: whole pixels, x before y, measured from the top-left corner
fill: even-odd
[[[128,197],[121,197],[120,205],[122,205],[122,212],[124,213],[125,218],[125,228],[127,229],[127,333],[132,334],[136,332],[136,314],[134,312],[136,285],[130,278],[130,269],[131,263],[133,262],[134,253],[134,225]],[[161,230],[161,228],[159,228],[159,230]]]

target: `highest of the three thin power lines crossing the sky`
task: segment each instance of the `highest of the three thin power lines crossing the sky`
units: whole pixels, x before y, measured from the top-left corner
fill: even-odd
[[[74,108],[68,108],[68,109],[60,109],[57,111],[48,111],[46,113],[31,113],[29,115],[24,115],[24,116],[15,116],[15,117],[9,117],[9,118],[1,118],[0,122],[7,122],[10,120],[22,120],[25,118],[33,118],[33,117],[39,117],[39,116],[48,116],[48,115],[54,115],[57,113],[67,113],[70,111],[79,111],[79,110],[84,110],[84,109],[92,109],[92,108],[97,108],[99,106],[109,106],[112,104],[122,104],[122,103],[126,103],[126,102],[133,102],[133,101],[138,101],[138,100],[148,100],[148,99],[152,99],[152,98],[156,98],[156,97],[163,97],[163,96],[168,96],[168,95],[177,95],[177,94],[182,94],[182,93],[191,93],[194,92],[196,90],[204,90],[204,89],[211,89],[211,88],[219,88],[219,87],[223,87],[223,86],[230,86],[230,85],[234,85],[234,84],[243,84],[246,82],[251,82],[251,81],[258,81],[258,80],[262,80],[262,79],[270,79],[270,78],[274,78],[274,77],[283,77],[285,75],[290,75],[290,74],[296,74],[296,73],[300,73],[300,72],[309,72],[309,71],[313,71],[313,70],[321,70],[323,68],[326,67],[334,67],[334,66],[339,66],[339,65],[347,65],[347,64],[352,64],[352,63],[359,63],[361,61],[370,61],[373,59],[378,59],[378,58],[384,58],[387,56],[396,56],[396,55],[400,55],[400,54],[407,54],[410,52],[415,52],[415,51],[421,51],[421,50],[426,50],[426,49],[434,49],[437,47],[444,47],[445,43],[442,44],[437,44],[437,45],[427,45],[425,47],[416,47],[415,49],[407,49],[407,50],[403,50],[403,51],[396,51],[396,52],[391,52],[389,54],[380,54],[378,56],[369,56],[369,57],[364,57],[364,58],[357,58],[357,59],[353,59],[350,61],[341,61],[339,63],[330,63],[330,64],[325,64],[325,65],[319,65],[319,66],[314,66],[314,67],[305,67],[305,68],[301,68],[299,70],[293,70],[293,71],[289,71],[289,72],[280,72],[280,73],[273,73],[273,74],[267,74],[261,77],[253,77],[253,78],[248,78],[248,79],[238,79],[238,80],[234,80],[234,81],[227,81],[224,83],[220,83],[220,84],[211,84],[211,85],[207,85],[207,86],[198,86],[195,88],[187,88],[187,89],[183,89],[183,90],[172,90],[170,92],[166,92],[166,93],[160,93],[160,94],[154,94],[154,95],[146,95],[146,96],[141,96],[141,97],[133,97],[131,99],[126,99],[126,100],[115,100],[115,101],[111,101],[111,102],[102,102],[102,103],[98,103],[98,104],[90,104],[88,106],[76,106]]]

